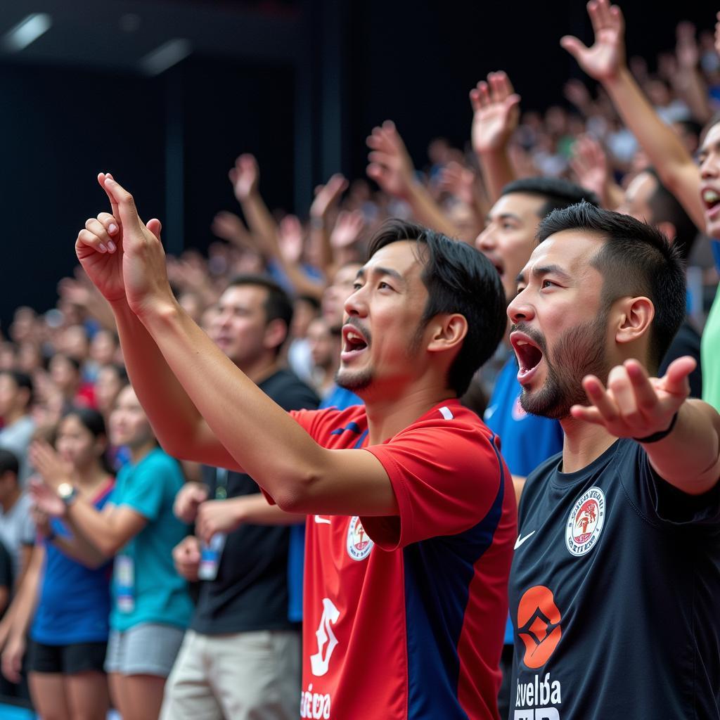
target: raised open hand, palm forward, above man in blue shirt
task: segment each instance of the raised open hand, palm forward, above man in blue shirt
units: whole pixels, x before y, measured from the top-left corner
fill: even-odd
[[[476,153],[500,150],[518,127],[520,96],[503,71],[490,73],[470,91],[472,148]]]

